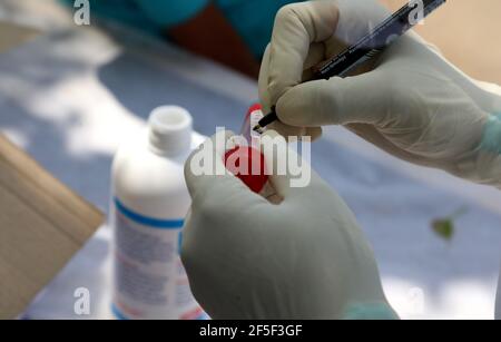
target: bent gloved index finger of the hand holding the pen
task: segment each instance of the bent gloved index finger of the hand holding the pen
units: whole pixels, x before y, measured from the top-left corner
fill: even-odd
[[[332,37],[338,18],[334,1],[293,3],[278,11],[269,47],[267,90],[272,104],[302,81],[312,43]]]

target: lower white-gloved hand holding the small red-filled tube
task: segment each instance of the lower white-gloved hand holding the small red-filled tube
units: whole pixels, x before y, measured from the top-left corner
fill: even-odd
[[[218,135],[225,135],[223,141],[230,137]],[[297,157],[284,138],[267,134],[273,136],[278,150]],[[207,158],[214,160],[204,163],[224,169],[225,146],[210,146],[217,139],[216,135],[205,143],[213,152]],[[228,173],[198,176],[193,165],[199,153],[185,167],[193,204],[181,258],[195,297],[212,317],[396,317],[355,217],[314,172],[304,188],[291,187],[289,174],[272,176],[283,198],[276,205]],[[268,169],[277,169],[272,148],[264,154]],[[306,163],[303,167],[311,172]]]

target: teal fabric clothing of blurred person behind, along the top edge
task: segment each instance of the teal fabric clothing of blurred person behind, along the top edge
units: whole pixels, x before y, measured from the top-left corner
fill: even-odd
[[[73,0],[61,0],[73,6]],[[215,0],[256,58],[264,53],[278,9],[294,0]],[[199,13],[209,0],[89,0],[91,16],[161,33]]]

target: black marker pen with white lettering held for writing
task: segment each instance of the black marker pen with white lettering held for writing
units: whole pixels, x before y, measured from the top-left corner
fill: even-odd
[[[344,77],[354,68],[377,56],[393,41],[419,23],[418,18],[413,18],[412,13],[419,8],[420,1],[423,3],[423,16],[421,19],[424,19],[445,3],[446,0],[410,1],[355,45],[348,47],[322,66],[315,72],[312,80],[330,79],[334,76]],[[278,117],[275,107],[273,107],[272,113],[261,119],[259,124],[253,129],[262,133],[263,128],[276,120],[278,120]]]

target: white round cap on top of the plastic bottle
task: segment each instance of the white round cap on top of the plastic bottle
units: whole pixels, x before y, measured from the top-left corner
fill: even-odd
[[[177,156],[191,146],[193,119],[177,106],[158,107],[149,116],[149,145],[161,156]]]

